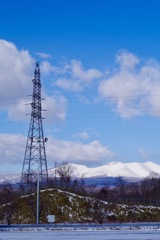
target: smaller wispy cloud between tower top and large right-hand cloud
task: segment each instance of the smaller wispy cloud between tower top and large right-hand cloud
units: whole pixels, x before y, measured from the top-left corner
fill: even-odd
[[[102,76],[102,73],[95,68],[85,70],[82,63],[77,60],[66,64],[64,69],[65,76],[60,76],[54,84],[69,91],[81,92],[85,87],[89,87],[94,79]]]

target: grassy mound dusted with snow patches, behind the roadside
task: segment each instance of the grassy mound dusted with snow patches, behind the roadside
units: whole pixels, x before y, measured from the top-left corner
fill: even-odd
[[[111,204],[58,189],[40,192],[40,222],[55,215],[57,223],[160,221],[160,207]],[[36,194],[0,206],[0,223],[36,222]]]

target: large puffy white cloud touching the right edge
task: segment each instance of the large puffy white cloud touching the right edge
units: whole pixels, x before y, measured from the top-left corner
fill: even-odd
[[[127,51],[120,51],[116,62],[118,68],[99,85],[102,99],[125,118],[142,114],[159,116],[160,63],[155,60],[143,63]]]

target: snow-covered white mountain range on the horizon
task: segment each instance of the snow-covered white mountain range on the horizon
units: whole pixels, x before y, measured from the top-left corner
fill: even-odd
[[[160,165],[154,162],[109,162],[99,167],[87,167],[70,163],[73,167],[73,175],[77,178],[105,178],[105,177],[125,177],[125,178],[145,178],[153,173],[160,175]],[[49,176],[54,176],[55,169],[49,169]],[[20,174],[0,175],[0,183],[2,182],[16,183],[20,181]]]

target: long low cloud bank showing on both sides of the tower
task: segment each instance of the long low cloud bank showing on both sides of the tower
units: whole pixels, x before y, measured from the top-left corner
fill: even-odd
[[[0,164],[23,164],[26,140],[23,135],[0,134]],[[115,153],[97,140],[84,144],[52,137],[48,137],[46,155],[49,167],[53,167],[55,162],[66,161],[87,165],[102,163],[115,157]]]

